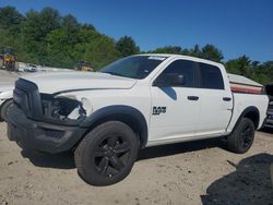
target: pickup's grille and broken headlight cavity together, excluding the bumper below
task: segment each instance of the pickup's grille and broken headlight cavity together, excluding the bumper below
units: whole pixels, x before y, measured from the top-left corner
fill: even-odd
[[[92,112],[84,97],[39,93],[36,84],[25,80],[16,82],[13,101],[29,119],[62,125],[79,125]]]

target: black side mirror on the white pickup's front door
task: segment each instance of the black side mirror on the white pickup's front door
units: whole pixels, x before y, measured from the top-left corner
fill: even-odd
[[[185,83],[186,82],[182,74],[169,73],[169,74],[164,74],[158,79],[156,79],[153,85],[157,87],[171,87],[171,86],[180,87],[185,85]]]

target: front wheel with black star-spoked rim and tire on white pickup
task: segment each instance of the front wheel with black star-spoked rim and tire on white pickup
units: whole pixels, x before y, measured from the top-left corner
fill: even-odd
[[[110,185],[124,179],[138,157],[139,140],[130,126],[105,122],[92,130],[74,153],[81,178],[92,185]]]

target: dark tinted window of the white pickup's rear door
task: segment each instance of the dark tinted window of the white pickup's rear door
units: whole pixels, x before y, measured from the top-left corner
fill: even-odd
[[[199,63],[200,87],[207,89],[224,89],[222,73],[217,67]]]

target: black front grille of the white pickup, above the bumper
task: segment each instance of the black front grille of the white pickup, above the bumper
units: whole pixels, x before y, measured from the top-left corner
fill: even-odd
[[[27,117],[34,119],[41,117],[40,95],[35,83],[23,79],[17,80],[13,91],[13,100]]]

